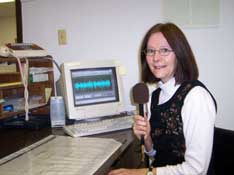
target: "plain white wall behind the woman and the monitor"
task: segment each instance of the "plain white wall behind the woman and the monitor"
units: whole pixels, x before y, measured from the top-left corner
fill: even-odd
[[[220,2],[218,27],[181,28],[197,58],[200,80],[217,99],[216,125],[234,130],[234,1]],[[133,109],[129,92],[139,80],[139,46],[148,28],[164,21],[161,11],[160,0],[22,0],[24,42],[46,48],[59,64],[119,59],[128,70],[126,109]],[[67,31],[67,45],[58,45],[58,29]]]

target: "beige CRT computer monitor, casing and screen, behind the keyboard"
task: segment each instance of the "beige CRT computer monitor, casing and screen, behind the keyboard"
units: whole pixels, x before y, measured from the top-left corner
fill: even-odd
[[[118,61],[65,62],[61,65],[60,85],[69,119],[97,119],[123,112]]]

